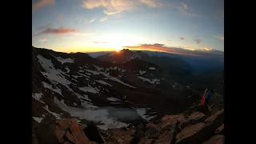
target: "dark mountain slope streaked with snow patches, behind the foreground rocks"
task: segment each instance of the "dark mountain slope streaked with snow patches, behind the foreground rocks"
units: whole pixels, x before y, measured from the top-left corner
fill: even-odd
[[[194,97],[191,97],[194,95]],[[32,117],[75,117],[102,129],[186,109],[201,98],[158,65],[134,58],[102,62],[32,46]]]

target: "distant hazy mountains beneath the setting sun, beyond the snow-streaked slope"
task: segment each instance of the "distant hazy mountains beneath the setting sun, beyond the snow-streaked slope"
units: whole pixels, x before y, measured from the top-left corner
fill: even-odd
[[[104,62],[124,63],[138,58],[157,64],[182,85],[188,85],[201,93],[206,87],[212,87],[222,94],[221,85],[218,85],[218,82],[223,80],[224,62],[223,58],[211,58],[213,55],[206,53],[206,57],[198,57],[124,49],[118,53],[103,54],[98,59]]]

